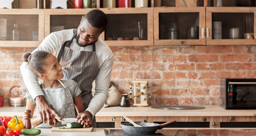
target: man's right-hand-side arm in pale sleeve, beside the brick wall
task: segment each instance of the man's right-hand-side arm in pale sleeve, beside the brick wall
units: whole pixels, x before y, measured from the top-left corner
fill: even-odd
[[[100,67],[98,75],[96,76],[95,94],[93,99],[90,101],[89,107],[86,109],[86,111],[89,111],[93,117],[106,103],[113,62],[113,56],[106,59]]]

